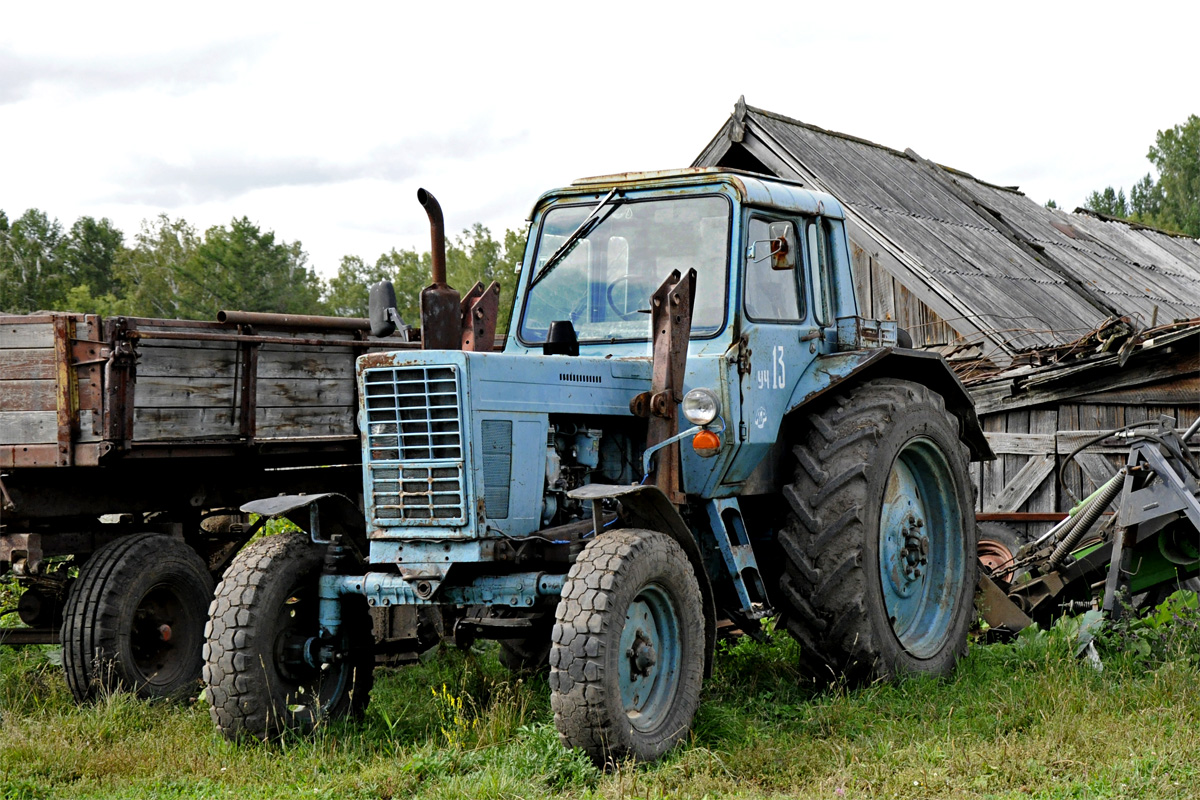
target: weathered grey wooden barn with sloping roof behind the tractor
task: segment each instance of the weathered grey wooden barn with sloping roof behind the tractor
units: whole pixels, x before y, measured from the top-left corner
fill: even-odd
[[[980,521],[1040,533],[1128,450],[1112,438],[1081,445],[1200,414],[1195,239],[1046,209],[744,100],[694,166],[799,180],[842,201],[860,313],[898,320],[974,395],[997,453],[973,467]]]

